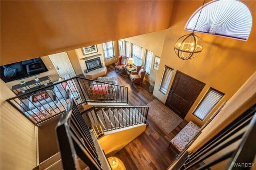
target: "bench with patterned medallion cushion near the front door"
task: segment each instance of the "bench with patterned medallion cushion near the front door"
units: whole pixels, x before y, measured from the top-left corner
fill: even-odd
[[[190,121],[181,131],[176,135],[172,141],[170,142],[170,147],[177,154],[182,152],[185,147],[192,141],[192,139],[196,136],[200,128]]]

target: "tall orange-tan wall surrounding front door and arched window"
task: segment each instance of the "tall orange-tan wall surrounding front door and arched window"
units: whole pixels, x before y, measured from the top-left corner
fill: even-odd
[[[204,49],[194,59],[183,61],[176,56],[174,44],[181,36],[191,33],[190,31],[185,31],[184,27],[190,16],[202,6],[202,1],[174,2],[171,27],[166,31],[153,94],[162,102],[166,102],[177,70],[206,83],[206,86],[185,117],[186,120],[193,121],[199,126],[204,124],[208,117],[220,106],[222,101],[229,100],[256,70],[256,1],[244,1],[244,3],[251,10],[253,18],[252,31],[247,41],[196,33],[196,35],[202,38]],[[180,15],[180,11],[186,12]],[[166,95],[158,90],[164,65],[174,68],[174,74]],[[192,115],[192,111],[194,111],[209,87],[213,87],[226,95],[208,117],[201,121]]]

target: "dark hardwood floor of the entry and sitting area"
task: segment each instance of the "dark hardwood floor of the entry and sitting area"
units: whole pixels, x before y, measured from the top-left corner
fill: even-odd
[[[149,92],[149,83],[143,81],[142,85],[134,85],[127,74],[114,70],[114,65],[107,66],[106,76],[114,76],[118,84],[128,87],[128,104],[130,106],[145,106],[155,100]],[[183,120],[171,133],[167,134],[150,116],[146,131],[131,143],[126,145],[114,156],[120,158],[127,170],[166,170],[174,160],[174,152],[168,145],[183,127],[188,123]]]

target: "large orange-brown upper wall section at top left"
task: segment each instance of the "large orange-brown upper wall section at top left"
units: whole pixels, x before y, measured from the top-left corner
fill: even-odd
[[[173,5],[157,0],[0,3],[1,65],[166,29]]]

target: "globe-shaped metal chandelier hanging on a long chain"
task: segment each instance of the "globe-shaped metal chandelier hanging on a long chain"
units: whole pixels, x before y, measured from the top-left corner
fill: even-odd
[[[205,0],[204,0],[204,2],[205,2]],[[199,17],[200,17],[200,14],[201,14],[203,8],[204,8],[204,3],[201,8],[201,11],[199,13],[199,16],[197,18],[196,25],[197,25],[197,22],[199,20]],[[196,25],[195,25],[192,33],[180,37],[174,45],[174,51],[175,51],[176,55],[178,55],[178,57],[182,60],[192,59],[192,58],[196,57],[197,55],[199,55],[199,53],[203,50],[202,39],[200,37],[198,37],[196,34],[194,34]]]

